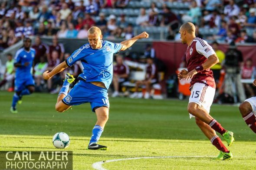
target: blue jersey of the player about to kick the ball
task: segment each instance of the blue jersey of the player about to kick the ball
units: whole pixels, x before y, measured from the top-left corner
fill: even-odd
[[[108,41],[102,41],[102,48],[99,49],[93,49],[86,43],[66,59],[66,64],[72,66],[76,61],[81,61],[84,70],[79,78],[86,82],[102,82],[108,89],[113,77],[113,54],[118,53],[121,48],[120,43]]]

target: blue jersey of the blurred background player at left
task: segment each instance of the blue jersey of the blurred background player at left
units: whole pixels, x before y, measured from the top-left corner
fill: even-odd
[[[16,68],[16,77],[26,77],[31,75],[31,67],[35,58],[36,51],[30,48],[30,51],[26,51],[24,48],[20,48],[15,55],[14,64],[20,63],[22,66]],[[24,66],[24,63],[29,62],[28,66]]]

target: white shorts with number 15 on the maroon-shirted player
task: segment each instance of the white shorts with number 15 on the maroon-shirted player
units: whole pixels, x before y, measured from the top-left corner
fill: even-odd
[[[188,103],[197,103],[200,107],[210,113],[210,107],[213,104],[215,89],[204,83],[195,83],[192,87]],[[194,117],[189,114],[190,118]]]

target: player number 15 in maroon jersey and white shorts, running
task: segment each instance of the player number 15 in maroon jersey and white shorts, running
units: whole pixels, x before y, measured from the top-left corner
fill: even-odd
[[[191,79],[191,95],[187,111],[190,113],[190,118],[195,117],[196,123],[203,134],[220,150],[220,154],[216,159],[230,160],[233,155],[225,147],[215,131],[223,136],[228,146],[234,141],[233,132],[224,129],[209,114],[215,94],[215,81],[210,67],[217,64],[219,59],[213,48],[206,41],[196,37],[193,23],[184,23],[180,28],[180,34],[181,42],[188,45],[186,52],[188,71],[182,70],[178,73],[179,79]]]

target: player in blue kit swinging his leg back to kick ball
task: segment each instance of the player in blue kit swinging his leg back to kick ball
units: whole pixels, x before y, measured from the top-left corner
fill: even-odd
[[[72,66],[76,61],[81,61],[84,67],[83,73],[78,76],[79,82],[69,91],[69,84],[75,79],[66,74],[65,80],[59,91],[55,106],[56,111],[64,112],[72,105],[90,103],[92,111],[97,116],[97,122],[92,129],[92,138],[88,149],[106,150],[107,147],[97,144],[106,122],[108,121],[109,102],[108,87],[113,77],[113,54],[131,47],[138,39],[148,38],[147,32],[125,40],[121,43],[102,41],[102,32],[98,27],[88,30],[88,41],[66,59],[56,66],[51,72],[43,73],[45,80]]]

